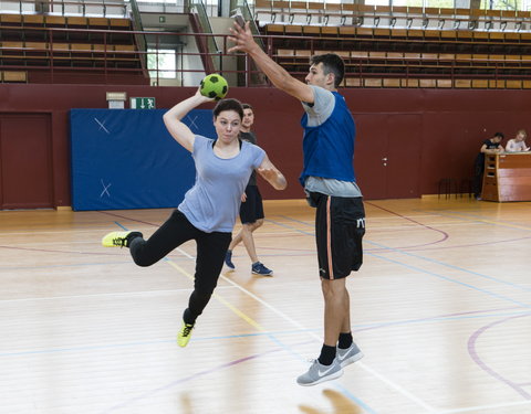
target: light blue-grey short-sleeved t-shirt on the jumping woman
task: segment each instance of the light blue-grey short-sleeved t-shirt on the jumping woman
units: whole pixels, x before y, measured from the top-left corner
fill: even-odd
[[[243,141],[232,158],[214,153],[214,140],[196,135],[194,141],[196,183],[177,208],[197,229],[211,232],[232,232],[251,172],[266,157],[260,147]]]

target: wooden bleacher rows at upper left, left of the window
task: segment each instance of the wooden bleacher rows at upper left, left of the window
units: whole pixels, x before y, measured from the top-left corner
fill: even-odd
[[[24,73],[24,82],[44,82],[53,67],[60,74],[90,72],[94,81],[113,74],[148,83],[144,57],[128,19],[0,14],[0,68]]]

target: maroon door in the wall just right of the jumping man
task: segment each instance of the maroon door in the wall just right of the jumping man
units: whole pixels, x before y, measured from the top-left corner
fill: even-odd
[[[354,114],[354,168],[366,199],[420,197],[421,116]]]

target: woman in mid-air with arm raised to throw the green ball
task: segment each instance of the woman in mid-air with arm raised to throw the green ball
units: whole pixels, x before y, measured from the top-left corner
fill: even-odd
[[[243,108],[236,99],[221,99],[214,108],[217,139],[195,135],[181,119],[197,106],[212,102],[198,89],[164,115],[169,134],[191,152],[196,182],[169,219],[148,238],[139,232],[112,232],[105,235],[105,247],[128,247],[138,266],[150,266],[183,243],[197,243],[194,291],[183,314],[177,343],[186,347],[196,319],[207,306],[231,241],[240,209],[241,194],[253,170],[274,189],[287,187],[284,176],[272,164],[260,147],[238,139]]]

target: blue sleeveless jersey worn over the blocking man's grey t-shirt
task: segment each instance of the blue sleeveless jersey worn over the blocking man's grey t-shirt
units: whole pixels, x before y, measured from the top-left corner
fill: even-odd
[[[309,127],[306,113],[301,119],[304,129],[304,167],[299,180],[302,185],[310,176],[355,181],[353,158],[356,127],[344,97],[336,92],[332,94],[335,98],[334,110],[323,124]]]

